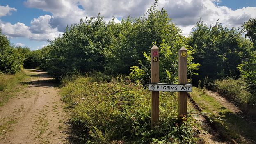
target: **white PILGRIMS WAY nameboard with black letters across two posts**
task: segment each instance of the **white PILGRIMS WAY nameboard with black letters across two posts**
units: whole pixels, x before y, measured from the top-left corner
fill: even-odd
[[[180,91],[192,92],[192,85],[178,85],[178,84],[149,84],[150,91]]]

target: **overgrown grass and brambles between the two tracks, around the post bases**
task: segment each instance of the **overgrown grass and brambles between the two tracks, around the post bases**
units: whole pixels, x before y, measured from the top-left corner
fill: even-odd
[[[160,122],[151,130],[151,93],[141,85],[113,78],[65,80],[61,95],[71,108],[71,121],[81,128],[81,141],[96,144],[203,143],[192,117],[178,125],[178,96],[160,93]]]

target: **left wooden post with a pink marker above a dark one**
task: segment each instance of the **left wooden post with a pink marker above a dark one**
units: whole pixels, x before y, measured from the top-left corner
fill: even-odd
[[[159,82],[159,49],[157,46],[151,48],[151,83]],[[159,91],[151,92],[151,128],[153,129],[159,121]]]

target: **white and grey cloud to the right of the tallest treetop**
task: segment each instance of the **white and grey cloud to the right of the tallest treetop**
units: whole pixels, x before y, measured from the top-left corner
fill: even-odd
[[[160,0],[158,7],[164,7],[172,21],[180,27],[187,36],[199,17],[208,25],[219,22],[229,28],[240,27],[249,17],[256,17],[256,7],[244,7],[232,10],[225,6],[217,6],[213,2],[220,0]]]

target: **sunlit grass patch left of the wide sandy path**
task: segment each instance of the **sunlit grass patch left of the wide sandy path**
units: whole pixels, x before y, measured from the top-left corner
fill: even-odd
[[[24,71],[14,75],[0,74],[0,106],[5,105],[9,98],[16,96],[16,93],[26,85],[19,85],[20,82],[30,78]]]

